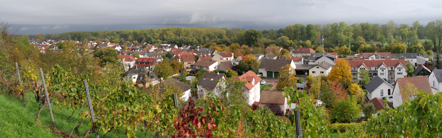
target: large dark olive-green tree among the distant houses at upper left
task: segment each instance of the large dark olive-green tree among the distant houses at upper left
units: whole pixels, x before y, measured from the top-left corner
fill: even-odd
[[[94,51],[94,56],[101,59],[102,66],[107,63],[116,64],[119,62],[118,53],[111,47]]]

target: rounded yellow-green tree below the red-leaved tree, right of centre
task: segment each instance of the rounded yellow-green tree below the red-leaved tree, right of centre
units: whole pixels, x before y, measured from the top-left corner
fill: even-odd
[[[356,98],[350,97],[347,100],[335,101],[331,110],[331,120],[339,123],[356,122],[360,118],[360,112],[362,109]]]

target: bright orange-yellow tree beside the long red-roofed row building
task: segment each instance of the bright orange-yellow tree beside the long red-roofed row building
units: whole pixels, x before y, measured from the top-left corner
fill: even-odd
[[[339,59],[331,68],[327,80],[347,82],[352,79],[352,72],[350,72],[350,65],[347,60]]]

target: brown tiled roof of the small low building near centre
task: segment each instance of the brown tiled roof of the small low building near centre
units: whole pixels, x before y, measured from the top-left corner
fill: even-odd
[[[285,97],[282,91],[277,90],[261,90],[261,98],[259,103],[262,104],[285,104]]]

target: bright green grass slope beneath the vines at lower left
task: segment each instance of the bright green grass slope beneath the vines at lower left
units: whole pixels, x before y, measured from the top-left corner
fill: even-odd
[[[62,136],[53,133],[48,129],[52,127],[51,115],[49,109],[45,108],[41,111],[38,121],[35,122],[37,117],[37,111],[40,106],[35,102],[35,98],[32,98],[33,94],[28,92],[26,95],[27,108],[23,105],[23,101],[15,99],[13,97],[7,97],[0,94],[0,136],[2,138],[60,138],[69,137],[72,129],[79,125],[81,117],[77,116],[78,110],[74,112],[74,115],[68,120],[67,118],[72,114],[72,111],[62,109],[59,110],[57,105],[52,105],[52,111],[54,114],[55,127],[61,131]],[[30,102],[29,102],[30,101]],[[88,110],[83,107],[82,110]],[[73,134],[77,136],[83,136],[84,132],[90,127],[88,126],[90,118],[84,118],[83,125]],[[78,122],[78,124],[77,124]],[[41,125],[39,125],[41,124]],[[144,132],[137,131],[137,137],[143,138]],[[100,137],[103,137],[103,133],[98,133]],[[147,133],[147,137],[151,134]],[[115,131],[111,131],[106,135],[106,138],[125,138],[124,131],[117,134]],[[87,138],[95,138],[93,134]],[[164,137],[160,137],[164,138]]]

